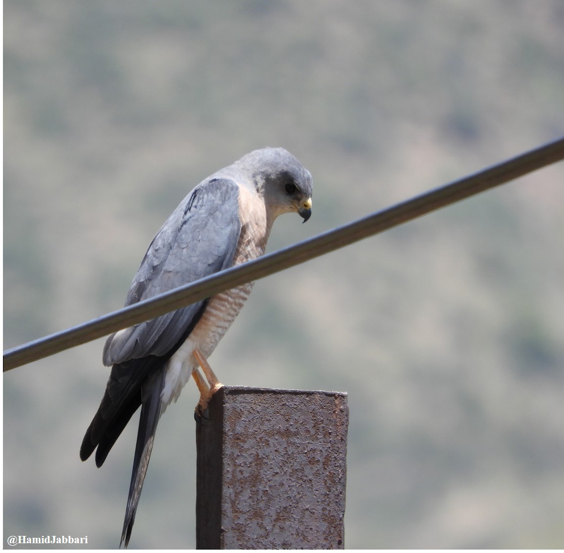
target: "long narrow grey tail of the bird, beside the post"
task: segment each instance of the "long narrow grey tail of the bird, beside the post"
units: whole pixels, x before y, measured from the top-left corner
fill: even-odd
[[[127,497],[127,508],[125,511],[124,529],[121,533],[120,547],[124,545],[124,542],[125,547],[127,547],[131,536],[131,529],[133,529],[135,511],[139,504],[143,481],[147,474],[158,419],[161,416],[161,392],[165,385],[165,374],[165,368],[157,370],[147,379],[147,382],[143,384],[139,430],[137,432],[133,471],[131,472],[131,484],[129,485],[129,497]]]

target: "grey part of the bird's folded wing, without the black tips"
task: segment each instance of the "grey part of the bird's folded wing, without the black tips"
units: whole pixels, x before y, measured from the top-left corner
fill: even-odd
[[[231,267],[240,232],[239,186],[230,179],[199,184],[153,238],[125,305]],[[177,345],[201,305],[198,302],[112,334],[104,346],[104,364],[165,355]]]

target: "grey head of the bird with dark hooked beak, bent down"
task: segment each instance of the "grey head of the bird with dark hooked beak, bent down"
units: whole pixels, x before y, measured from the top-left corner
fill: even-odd
[[[262,148],[240,160],[250,169],[256,191],[265,200],[271,220],[298,213],[305,223],[311,216],[310,172],[284,148]]]

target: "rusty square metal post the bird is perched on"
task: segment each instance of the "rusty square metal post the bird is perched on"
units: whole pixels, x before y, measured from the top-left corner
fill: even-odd
[[[343,549],[346,393],[223,387],[196,424],[196,548]]]

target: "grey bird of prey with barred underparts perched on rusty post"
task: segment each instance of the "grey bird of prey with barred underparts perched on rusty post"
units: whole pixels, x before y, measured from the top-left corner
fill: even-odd
[[[303,222],[310,218],[311,193],[310,172],[283,148],[255,150],[209,176],[184,198],[153,238],[125,305],[262,255],[278,215],[297,212]],[[252,286],[238,286],[120,330],[106,340],[103,362],[112,369],[80,457],[85,461],[98,448],[96,466],[102,466],[141,407],[120,546],[129,543],[160,416],[178,399],[190,375],[200,389],[199,408],[205,409],[221,386],[206,360]]]

